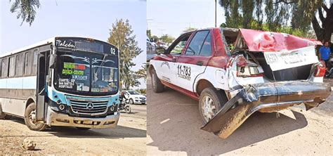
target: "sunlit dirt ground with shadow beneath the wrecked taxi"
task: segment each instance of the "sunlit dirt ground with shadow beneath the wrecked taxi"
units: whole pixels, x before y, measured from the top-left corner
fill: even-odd
[[[332,155],[333,96],[320,107],[303,104],[254,113],[229,138],[200,130],[197,101],[168,89],[154,93],[148,77],[148,155]],[[331,84],[332,85],[332,84]]]

